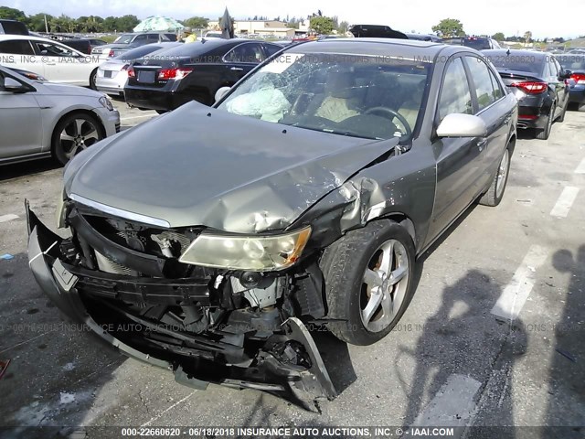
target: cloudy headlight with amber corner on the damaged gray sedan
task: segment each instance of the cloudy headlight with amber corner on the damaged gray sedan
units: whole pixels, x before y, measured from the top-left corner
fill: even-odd
[[[201,233],[179,261],[231,270],[282,270],[299,260],[309,236],[310,227],[282,235],[222,236]]]

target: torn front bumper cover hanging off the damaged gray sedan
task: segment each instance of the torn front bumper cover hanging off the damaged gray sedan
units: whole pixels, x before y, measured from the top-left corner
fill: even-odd
[[[229,337],[218,339],[160,327],[147,317],[112,305],[116,302],[108,298],[115,296],[120,300],[136,294],[147,298],[148,294],[154,294],[167,300],[172,294],[181,297],[191,294],[205,301],[205,284],[197,280],[190,284],[184,280],[178,283],[171,279],[140,280],[73,267],[59,259],[59,244],[63,240],[37,219],[28,204],[26,209],[29,265],[37,283],[66,316],[87,325],[125,355],[171,369],[177,382],[201,390],[213,382],[237,389],[268,391],[307,410],[314,410],[317,399],[335,398],[336,391],[321,355],[299,319],[292,317],[284,321],[281,333],[269,338],[255,354],[250,353],[253,348],[230,344]],[[88,304],[110,308],[106,314],[116,316],[116,322],[130,322],[140,326],[140,330],[133,329],[133,338],[129,338],[112,325],[96,320]],[[239,335],[234,337],[238,339]],[[289,357],[298,355],[302,361],[283,361],[286,355],[277,359],[273,355],[278,350],[275,346],[286,346]]]

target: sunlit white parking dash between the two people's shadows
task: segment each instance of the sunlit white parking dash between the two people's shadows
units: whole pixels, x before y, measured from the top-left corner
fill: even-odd
[[[493,315],[505,320],[516,320],[534,286],[534,273],[547,260],[547,256],[547,249],[539,245],[528,249],[512,280],[505,286],[492,308]]]

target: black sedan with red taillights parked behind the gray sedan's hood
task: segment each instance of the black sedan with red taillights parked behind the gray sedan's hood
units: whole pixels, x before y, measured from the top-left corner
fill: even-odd
[[[157,57],[136,59],[124,87],[126,102],[167,112],[186,102],[211,105],[221,87],[230,87],[282,47],[242,38],[208,39],[168,48]]]

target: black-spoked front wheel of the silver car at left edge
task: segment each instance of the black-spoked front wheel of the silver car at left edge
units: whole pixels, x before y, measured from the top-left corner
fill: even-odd
[[[66,165],[74,155],[105,137],[101,124],[90,114],[72,112],[59,121],[53,132],[53,156]]]

